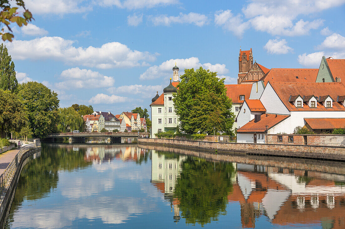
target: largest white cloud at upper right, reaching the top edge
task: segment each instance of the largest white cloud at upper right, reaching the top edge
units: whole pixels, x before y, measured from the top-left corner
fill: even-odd
[[[242,37],[249,27],[272,35],[301,36],[319,28],[324,22],[322,19],[305,21],[299,19],[301,15],[317,15],[315,13],[340,6],[344,2],[345,0],[249,0],[242,9],[246,22],[243,22],[241,14],[234,16],[230,10],[226,10],[216,12],[215,24],[232,31],[237,37]]]

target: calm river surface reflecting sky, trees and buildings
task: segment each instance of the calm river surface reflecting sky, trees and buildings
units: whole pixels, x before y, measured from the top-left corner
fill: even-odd
[[[340,162],[137,144],[46,144],[34,157],[6,228],[345,228]]]

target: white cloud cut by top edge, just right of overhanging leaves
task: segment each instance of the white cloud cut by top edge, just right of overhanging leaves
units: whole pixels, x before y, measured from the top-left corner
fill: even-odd
[[[82,13],[91,9],[85,0],[26,0],[25,6],[35,14]]]

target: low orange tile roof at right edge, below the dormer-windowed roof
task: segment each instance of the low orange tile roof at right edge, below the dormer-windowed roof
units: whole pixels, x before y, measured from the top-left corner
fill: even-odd
[[[345,118],[305,118],[304,121],[314,130],[345,128]]]

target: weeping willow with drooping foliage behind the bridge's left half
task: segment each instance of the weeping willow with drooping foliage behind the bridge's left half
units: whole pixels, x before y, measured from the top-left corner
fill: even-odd
[[[73,130],[84,131],[84,120],[73,107],[60,108],[59,112],[59,132],[71,132]]]

